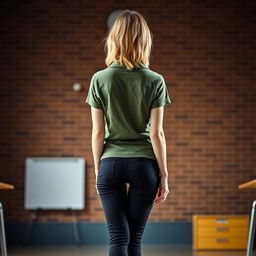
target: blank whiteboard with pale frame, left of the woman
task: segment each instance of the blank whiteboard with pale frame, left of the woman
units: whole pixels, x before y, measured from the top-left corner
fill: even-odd
[[[85,159],[26,158],[25,209],[84,209]]]

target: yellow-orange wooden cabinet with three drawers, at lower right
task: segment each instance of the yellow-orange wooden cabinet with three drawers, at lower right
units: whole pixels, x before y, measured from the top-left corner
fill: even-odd
[[[193,215],[193,249],[246,249],[249,215]]]

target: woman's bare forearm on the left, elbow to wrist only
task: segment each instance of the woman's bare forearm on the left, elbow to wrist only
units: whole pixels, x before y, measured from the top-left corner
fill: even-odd
[[[102,155],[103,148],[104,148],[104,134],[92,132],[91,143],[92,143],[92,153],[93,153],[95,174],[97,175],[99,170],[100,157]]]

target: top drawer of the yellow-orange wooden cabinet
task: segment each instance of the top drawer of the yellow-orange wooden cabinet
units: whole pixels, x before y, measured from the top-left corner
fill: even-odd
[[[199,217],[196,220],[199,226],[217,226],[217,225],[226,225],[226,226],[241,226],[248,225],[249,218],[246,217]]]

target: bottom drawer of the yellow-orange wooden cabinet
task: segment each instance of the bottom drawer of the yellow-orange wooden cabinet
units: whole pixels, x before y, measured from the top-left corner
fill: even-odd
[[[200,238],[197,249],[246,249],[247,238]]]

